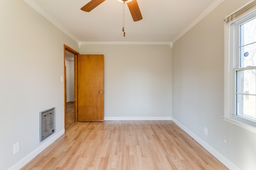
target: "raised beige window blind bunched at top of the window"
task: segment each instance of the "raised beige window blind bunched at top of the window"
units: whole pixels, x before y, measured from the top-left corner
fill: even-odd
[[[256,0],[250,1],[235,12],[231,13],[230,15],[226,16],[225,22],[226,23],[233,23],[243,16],[246,16],[247,14],[250,14],[256,10]]]

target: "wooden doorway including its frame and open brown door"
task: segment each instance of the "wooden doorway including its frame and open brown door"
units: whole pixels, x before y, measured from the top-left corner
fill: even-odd
[[[70,66],[68,56],[74,57],[74,68]],[[69,68],[67,67],[69,64]],[[74,69],[74,118],[75,121],[104,121],[104,55],[80,55],[64,45],[64,122],[65,131],[69,128],[70,117],[67,104],[73,99],[67,85],[70,82],[70,69]],[[67,81],[68,79],[68,81]],[[70,80],[71,79],[71,80]],[[73,94],[72,94],[73,95]],[[72,101],[71,101],[72,102]],[[78,115],[79,109],[79,115]],[[66,120],[67,119],[67,120]]]

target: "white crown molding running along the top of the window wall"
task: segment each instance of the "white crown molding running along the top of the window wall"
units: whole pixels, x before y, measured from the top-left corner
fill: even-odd
[[[175,43],[180,37],[182,37],[185,33],[187,33],[192,27],[194,27],[198,22],[204,19],[210,12],[212,12],[215,8],[217,8],[224,0],[215,0],[206,10],[204,10],[192,23],[188,25],[180,34],[172,40],[172,43]]]

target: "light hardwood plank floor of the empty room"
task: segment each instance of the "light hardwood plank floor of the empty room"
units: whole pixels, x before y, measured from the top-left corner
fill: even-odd
[[[172,121],[77,122],[21,170],[228,170]]]

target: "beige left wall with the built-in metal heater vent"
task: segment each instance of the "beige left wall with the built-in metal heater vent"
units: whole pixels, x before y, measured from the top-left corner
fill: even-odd
[[[64,132],[64,44],[79,50],[24,1],[0,1],[1,170],[17,163],[18,169]],[[40,143],[39,112],[51,107],[56,107],[56,133]],[[20,152],[13,154],[17,142]]]

